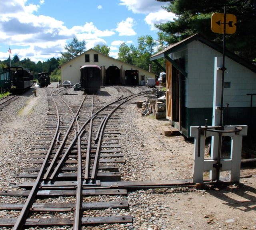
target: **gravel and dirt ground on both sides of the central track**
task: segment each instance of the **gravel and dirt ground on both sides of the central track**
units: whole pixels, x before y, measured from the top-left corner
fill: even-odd
[[[146,87],[142,88],[147,90]],[[138,92],[142,88],[129,87],[129,90]],[[68,90],[74,93],[72,88]],[[116,89],[112,87],[102,88],[101,91],[102,103],[108,102],[106,95],[117,94]],[[81,92],[77,92],[79,100]],[[37,88],[37,97],[34,96],[34,88],[32,88],[0,111],[1,190],[13,190],[12,186],[19,183],[14,175],[27,167],[20,161],[35,143],[36,133],[44,127],[48,111],[45,99],[45,88]],[[73,97],[72,100],[74,100]],[[123,106],[125,112],[120,115],[120,124],[118,124],[122,133],[120,145],[126,159],[126,164],[120,167],[122,180],[159,181],[192,178],[193,142],[185,140],[182,136],[164,137],[162,127],[170,123],[165,119],[142,117],[141,110],[136,108],[135,104],[140,100],[145,100],[144,96],[125,104]],[[132,224],[104,224],[83,229],[256,229],[256,173],[255,169],[247,169],[246,172],[250,173],[251,177],[241,179],[240,185],[223,189],[180,188],[130,191],[125,198],[121,196],[112,198],[117,201],[128,199],[128,210],[98,210],[90,214],[104,215],[114,211],[118,215],[132,215],[134,218]],[[88,199],[90,197],[86,198]],[[106,201],[110,198],[101,196],[94,199]],[[14,202],[21,202],[20,200],[17,198]],[[6,198],[0,197],[0,202],[6,202]],[[0,218],[15,215],[16,212],[0,211]]]

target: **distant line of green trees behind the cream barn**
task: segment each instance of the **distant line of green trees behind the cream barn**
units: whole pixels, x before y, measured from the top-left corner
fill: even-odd
[[[121,43],[118,52],[118,59],[136,67],[148,70],[150,56],[154,53],[156,44],[156,41],[154,41],[154,39],[149,35],[138,38],[138,47],[135,47],[134,45],[128,46],[126,43]],[[0,61],[0,68],[9,67],[11,63],[11,66],[22,66],[33,71],[35,79],[37,78],[38,73],[46,72],[50,73],[51,81],[59,81],[60,66],[84,53],[86,51],[86,42],[84,40],[79,41],[77,37],[73,37],[72,41],[65,45],[64,48],[66,51],[63,53],[61,52],[60,58],[52,57],[47,61],[38,61],[38,63],[35,63],[29,58],[20,60],[18,55],[15,55],[11,59],[11,62],[10,57],[4,61]],[[104,55],[110,55],[110,47],[106,45],[96,45],[93,49]],[[154,69],[153,67],[153,70],[156,71],[156,73],[157,68],[158,67]]]

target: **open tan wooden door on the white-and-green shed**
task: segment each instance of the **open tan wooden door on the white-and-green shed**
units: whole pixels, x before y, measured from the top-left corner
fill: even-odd
[[[179,60],[176,60],[178,64]],[[166,118],[174,121],[181,130],[179,71],[166,61]]]

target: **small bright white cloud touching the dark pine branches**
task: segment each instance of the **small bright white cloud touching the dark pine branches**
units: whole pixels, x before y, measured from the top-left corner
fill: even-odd
[[[158,12],[148,14],[144,20],[148,25],[150,25],[151,30],[156,30],[154,24],[173,21],[174,18],[175,14],[167,12],[166,10],[160,10]]]

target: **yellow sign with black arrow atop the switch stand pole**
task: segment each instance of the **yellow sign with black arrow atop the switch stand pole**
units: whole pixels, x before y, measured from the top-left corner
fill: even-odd
[[[236,32],[236,16],[234,14],[226,14],[226,23],[224,22],[224,14],[214,13],[212,14],[211,29],[214,33],[224,33],[224,27],[226,27],[226,33]]]

